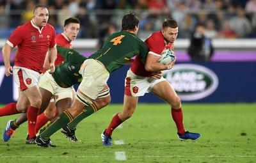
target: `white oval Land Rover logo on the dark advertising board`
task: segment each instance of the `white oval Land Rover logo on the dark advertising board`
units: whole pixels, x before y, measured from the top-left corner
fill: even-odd
[[[218,87],[218,77],[205,66],[177,64],[163,76],[170,82],[181,100],[191,101],[207,97]]]

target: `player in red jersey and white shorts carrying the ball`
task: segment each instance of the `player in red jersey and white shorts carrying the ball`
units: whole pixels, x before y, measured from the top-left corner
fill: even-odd
[[[180,98],[171,84],[161,76],[162,72],[159,72],[160,65],[157,61],[168,43],[172,43],[171,49],[173,50],[173,43],[179,32],[178,28],[179,24],[176,20],[164,20],[161,31],[152,33],[152,35],[145,40],[149,49],[146,61],[147,64],[145,65],[143,63],[140,56],[136,56],[131,68],[128,70],[125,78],[124,107],[120,113],[117,113],[112,118],[108,128],[102,132],[101,138],[104,146],[112,146],[111,135],[113,130],[128,118],[131,118],[138,105],[139,97],[148,92],[154,93],[154,95],[170,104],[172,118],[175,121],[179,139],[198,139],[201,136],[198,133],[185,131]],[[164,66],[167,66],[166,69],[170,70],[174,63],[175,60],[171,65]],[[156,79],[156,77],[154,77],[156,73],[153,72],[159,72],[161,77]]]

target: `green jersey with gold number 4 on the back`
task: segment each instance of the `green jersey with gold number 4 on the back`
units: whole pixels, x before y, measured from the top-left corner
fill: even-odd
[[[128,31],[120,31],[109,36],[102,49],[89,58],[102,62],[111,73],[132,57],[140,55],[142,59],[146,59],[147,54],[148,47],[138,36]]]

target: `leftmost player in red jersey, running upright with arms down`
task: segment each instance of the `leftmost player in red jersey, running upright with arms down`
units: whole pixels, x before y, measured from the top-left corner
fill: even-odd
[[[17,27],[2,49],[5,65],[5,75],[13,74],[19,85],[19,99],[16,103],[6,105],[1,109],[0,116],[27,113],[28,137],[26,143],[35,139],[35,125],[38,111],[42,104],[42,95],[38,89],[38,81],[43,70],[45,56],[48,52],[49,73],[55,70],[56,59],[56,32],[54,27],[47,24],[49,13],[42,5],[35,6],[33,19]],[[10,65],[10,52],[18,47],[14,66]],[[13,73],[12,73],[13,71]],[[12,135],[14,130],[6,127],[3,136]],[[4,137],[4,141],[6,141]]]

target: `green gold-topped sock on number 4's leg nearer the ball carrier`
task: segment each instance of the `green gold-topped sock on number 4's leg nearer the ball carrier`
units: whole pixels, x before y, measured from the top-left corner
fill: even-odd
[[[83,109],[83,112],[80,113],[78,116],[76,116],[74,118],[74,120],[72,120],[70,123],[68,123],[68,127],[74,129],[76,128],[77,124],[82,121],[84,118],[90,116],[91,114],[95,113],[98,111],[98,108],[97,106],[92,103],[91,105],[89,106],[86,106],[84,109]]]

